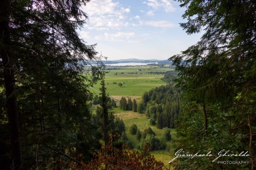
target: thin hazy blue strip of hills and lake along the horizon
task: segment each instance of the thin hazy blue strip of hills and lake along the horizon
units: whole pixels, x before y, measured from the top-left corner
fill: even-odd
[[[120,60],[103,60],[104,64],[117,64],[117,63],[124,63],[124,62],[158,62],[158,63],[171,63],[169,60],[156,60],[156,59],[137,59],[137,58],[129,58],[129,59],[120,59]]]

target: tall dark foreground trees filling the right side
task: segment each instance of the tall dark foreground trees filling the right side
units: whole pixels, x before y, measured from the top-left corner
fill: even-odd
[[[247,156],[179,159],[174,169],[255,169],[256,5],[255,1],[181,0],[190,34],[203,31],[197,44],[169,60],[183,90],[175,151]],[[228,153],[227,153],[228,151]],[[232,161],[248,161],[246,164]],[[196,163],[195,163],[196,162]]]

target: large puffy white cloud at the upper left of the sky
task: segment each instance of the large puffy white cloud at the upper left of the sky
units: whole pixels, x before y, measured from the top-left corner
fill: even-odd
[[[121,7],[118,2],[112,0],[90,1],[83,6],[83,11],[89,17],[87,25],[85,25],[88,29],[119,29],[129,25],[125,21],[127,13],[131,11],[129,7]]]

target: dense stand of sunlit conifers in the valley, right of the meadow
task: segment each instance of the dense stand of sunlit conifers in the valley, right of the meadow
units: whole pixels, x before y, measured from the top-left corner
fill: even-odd
[[[181,90],[171,85],[160,86],[143,94],[142,105],[151,125],[157,125],[159,129],[175,128],[175,120],[181,114],[180,94]]]

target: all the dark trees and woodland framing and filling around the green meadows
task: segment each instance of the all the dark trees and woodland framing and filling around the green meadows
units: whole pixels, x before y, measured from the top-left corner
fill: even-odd
[[[255,169],[256,3],[177,1],[185,7],[181,27],[203,36],[169,58],[168,85],[145,92],[138,105],[121,100],[121,109],[145,112],[163,128],[162,139],[151,128],[129,129],[141,151],[123,145],[129,141],[111,112],[116,102],[106,92],[102,57],[77,34],[89,0],[1,1],[0,169],[162,169],[149,151],[166,147],[169,128],[177,130],[173,153],[248,153],[219,158],[228,165],[177,158],[176,170]]]

